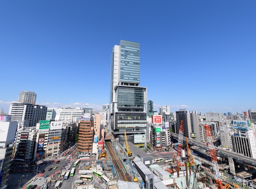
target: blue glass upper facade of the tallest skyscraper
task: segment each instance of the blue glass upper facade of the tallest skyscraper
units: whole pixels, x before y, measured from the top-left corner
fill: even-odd
[[[140,82],[139,43],[120,41],[120,80],[125,82]]]

